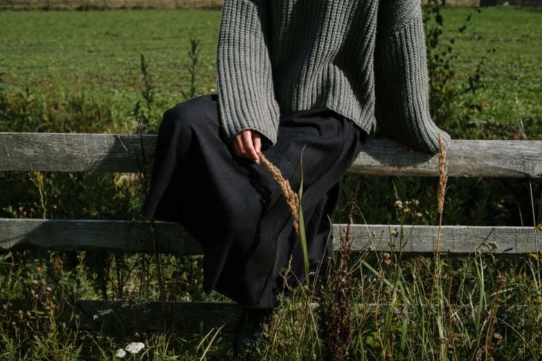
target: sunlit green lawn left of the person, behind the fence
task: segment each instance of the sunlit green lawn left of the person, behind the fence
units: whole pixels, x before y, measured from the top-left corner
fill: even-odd
[[[158,96],[170,104],[190,87],[190,38],[198,39],[197,91],[213,92],[219,11],[119,10],[109,12],[0,13],[0,57],[5,81],[31,89],[51,81],[114,98],[131,107],[140,97],[140,56]],[[165,109],[164,109],[165,110]]]

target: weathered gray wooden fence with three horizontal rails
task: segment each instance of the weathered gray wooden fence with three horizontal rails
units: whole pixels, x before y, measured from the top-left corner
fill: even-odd
[[[152,165],[155,140],[156,136],[127,134],[0,133],[0,171],[147,172]],[[542,141],[452,140],[446,151],[449,176],[542,177]],[[438,156],[420,153],[391,140],[370,139],[348,174],[438,176],[437,167]],[[336,241],[343,226],[333,226]],[[354,251],[364,252],[369,247],[376,251],[390,250],[391,232],[396,228],[400,230],[399,225],[354,225]],[[0,219],[0,249],[154,252],[154,236],[161,253],[201,254],[198,243],[177,223],[155,222],[154,232],[147,222]],[[404,254],[434,254],[437,227],[406,227],[403,232],[407,241]],[[539,249],[532,227],[447,225],[442,228],[440,250],[449,257],[481,252],[514,258]],[[27,300],[10,302],[15,309],[30,307]],[[144,306],[127,301],[64,302],[67,307],[63,317],[67,319],[71,308],[75,308],[86,329],[102,326],[93,315],[112,312],[116,314],[111,317],[116,324],[111,327],[152,327],[168,320],[179,331],[205,332],[224,326],[222,331],[231,332],[231,321],[239,311],[233,303],[168,302],[162,307],[159,302]],[[145,308],[144,312],[135,312],[141,307]]]

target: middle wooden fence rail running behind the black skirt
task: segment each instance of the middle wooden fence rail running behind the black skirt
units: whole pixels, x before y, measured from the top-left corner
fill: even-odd
[[[201,254],[201,247],[177,223],[156,222],[159,252]],[[345,225],[334,224],[337,249]],[[354,252],[402,252],[406,256],[431,256],[437,246],[436,226],[352,225]],[[536,252],[533,228],[473,227],[444,225],[440,251],[451,257],[466,257],[473,252],[493,253],[496,257],[521,257]],[[43,219],[0,219],[2,250],[101,250],[105,252],[152,252],[150,223],[124,221],[78,221]]]

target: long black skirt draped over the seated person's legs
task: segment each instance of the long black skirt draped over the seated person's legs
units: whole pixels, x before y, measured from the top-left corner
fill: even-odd
[[[262,154],[298,192],[303,164],[302,211],[311,270],[333,257],[330,237],[343,174],[367,133],[329,109],[281,111],[278,140]],[[289,207],[263,165],[233,154],[220,130],[217,95],[202,95],[164,113],[146,218],[177,222],[204,249],[204,291],[246,308],[278,306],[281,268],[305,278]],[[323,262],[323,263],[322,263]]]

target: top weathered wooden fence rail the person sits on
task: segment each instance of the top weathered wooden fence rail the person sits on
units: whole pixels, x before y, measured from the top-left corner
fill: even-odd
[[[0,171],[145,172],[155,142],[150,135],[0,133]],[[446,152],[449,176],[542,176],[542,141],[452,140]],[[438,156],[369,139],[348,174],[438,176]]]

